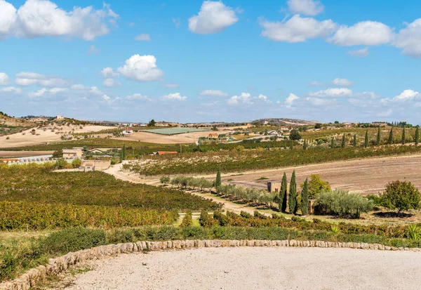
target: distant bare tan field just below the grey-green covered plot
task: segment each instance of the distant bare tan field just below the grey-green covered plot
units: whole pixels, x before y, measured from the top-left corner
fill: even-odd
[[[200,137],[207,137],[211,131],[201,131],[201,132],[191,132],[191,133],[182,133],[177,135],[161,135],[156,133],[149,132],[135,132],[129,137],[116,137],[112,139],[118,140],[132,140],[140,141],[147,143],[159,143],[159,144],[178,144],[178,143],[194,143],[199,140]],[[218,134],[229,133],[231,130],[217,131]]]

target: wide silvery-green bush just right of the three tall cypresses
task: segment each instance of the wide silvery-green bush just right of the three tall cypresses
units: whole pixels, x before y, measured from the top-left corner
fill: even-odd
[[[316,195],[316,206],[321,213],[341,217],[359,218],[360,214],[373,209],[373,202],[357,193],[346,190],[322,191]]]

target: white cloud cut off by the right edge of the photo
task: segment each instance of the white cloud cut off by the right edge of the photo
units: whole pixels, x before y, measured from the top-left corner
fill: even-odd
[[[406,55],[421,58],[421,18],[409,23],[399,31],[394,45],[403,48]]]

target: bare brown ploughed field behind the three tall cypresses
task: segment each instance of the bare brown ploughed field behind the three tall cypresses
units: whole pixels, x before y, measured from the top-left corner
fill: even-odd
[[[385,185],[393,180],[407,180],[421,188],[420,169],[421,155],[415,154],[222,175],[222,182],[266,188],[268,181],[281,182],[283,172],[286,172],[289,180],[295,170],[298,184],[312,174],[319,174],[333,188],[372,195],[382,192]],[[262,177],[268,179],[258,180]]]

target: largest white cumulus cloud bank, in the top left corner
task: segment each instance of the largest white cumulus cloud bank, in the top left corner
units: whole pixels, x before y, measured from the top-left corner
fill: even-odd
[[[69,36],[93,40],[108,34],[107,22],[118,18],[107,4],[98,10],[74,6],[72,11],[65,11],[48,0],[27,0],[18,9],[0,0],[0,38]]]

